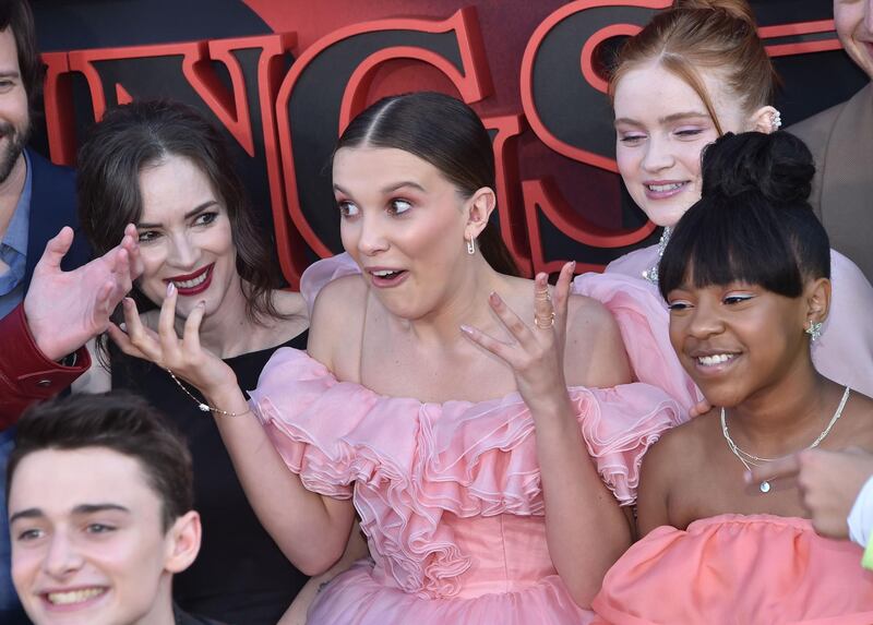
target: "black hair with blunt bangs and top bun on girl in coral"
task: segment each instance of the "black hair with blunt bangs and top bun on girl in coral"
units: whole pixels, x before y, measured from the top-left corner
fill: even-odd
[[[742,281],[796,298],[830,277],[830,244],[808,199],[806,145],[787,132],[728,133],[705,148],[701,200],[682,216],[658,268],[661,295]]]

